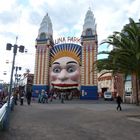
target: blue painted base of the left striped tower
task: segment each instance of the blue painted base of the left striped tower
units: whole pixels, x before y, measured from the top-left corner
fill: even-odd
[[[45,91],[49,91],[49,86],[47,85],[33,85],[32,87],[33,89],[33,97],[38,97],[38,94],[41,92],[42,89],[44,89]]]

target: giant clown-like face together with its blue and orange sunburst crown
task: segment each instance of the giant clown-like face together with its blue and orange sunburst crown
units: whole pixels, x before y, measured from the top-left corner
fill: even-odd
[[[50,50],[50,84],[57,91],[77,91],[80,86],[81,46],[59,44]]]

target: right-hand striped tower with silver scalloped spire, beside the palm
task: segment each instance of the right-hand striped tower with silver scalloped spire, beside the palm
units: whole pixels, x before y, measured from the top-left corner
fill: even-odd
[[[92,11],[89,9],[85,16],[81,35],[81,89],[83,94],[95,96],[95,98],[97,94],[97,72],[93,64],[97,60],[97,42],[95,18]]]

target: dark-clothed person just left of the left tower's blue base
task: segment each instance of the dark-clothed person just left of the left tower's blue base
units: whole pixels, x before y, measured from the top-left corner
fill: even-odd
[[[32,98],[32,85],[27,85],[26,88],[26,99],[27,99],[27,104],[31,104],[31,98]]]

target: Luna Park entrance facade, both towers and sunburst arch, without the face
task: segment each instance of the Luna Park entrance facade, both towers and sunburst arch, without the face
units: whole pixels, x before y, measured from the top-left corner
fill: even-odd
[[[63,38],[62,40],[65,39]],[[80,67],[80,81],[77,88],[80,90],[81,99],[98,98],[97,72],[93,65],[97,60],[98,40],[95,18],[90,9],[85,16],[80,44],[76,43],[76,41],[76,38],[69,38],[69,42],[54,43],[51,19],[48,14],[44,16],[35,46],[36,55],[33,84],[35,96],[42,89],[50,91],[54,88],[50,79],[50,63],[54,58],[67,56],[76,60]]]

